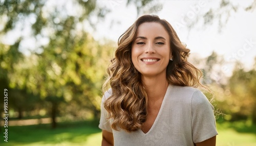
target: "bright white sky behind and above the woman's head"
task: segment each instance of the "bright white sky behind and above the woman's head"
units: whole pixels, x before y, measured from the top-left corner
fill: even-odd
[[[162,8],[159,12],[150,14],[157,14],[160,18],[166,19],[174,27],[180,40],[187,44],[191,54],[204,58],[215,51],[227,62],[241,61],[245,68],[251,68],[256,57],[256,9],[244,9],[253,1],[231,1],[234,6],[238,6],[238,10],[229,12],[230,17],[224,23],[221,32],[217,19],[212,25],[207,26],[201,21],[202,15],[209,9],[217,9],[220,2],[153,1],[153,4],[162,4]],[[99,0],[98,4],[110,8],[111,12],[97,25],[93,35],[98,40],[105,37],[117,42],[119,36],[138,18],[136,8],[133,5],[126,7],[126,1]],[[222,16],[225,18],[224,12],[218,12],[223,13]],[[199,19],[199,22],[189,30],[187,25],[196,19]]]

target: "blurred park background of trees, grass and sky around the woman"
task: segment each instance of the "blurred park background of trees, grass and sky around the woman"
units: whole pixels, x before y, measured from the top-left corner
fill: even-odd
[[[106,68],[118,37],[143,14],[169,21],[203,71],[220,113],[217,145],[255,145],[255,7],[252,0],[1,0],[0,145],[100,145]]]

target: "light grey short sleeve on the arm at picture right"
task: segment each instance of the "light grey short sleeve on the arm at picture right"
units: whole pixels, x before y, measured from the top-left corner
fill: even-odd
[[[198,143],[218,135],[214,107],[199,90],[191,98],[191,127],[193,142]]]

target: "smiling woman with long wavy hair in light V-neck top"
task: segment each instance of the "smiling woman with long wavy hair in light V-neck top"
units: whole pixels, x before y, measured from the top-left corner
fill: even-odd
[[[144,15],[118,40],[104,84],[102,145],[216,145],[202,73],[170,24]]]

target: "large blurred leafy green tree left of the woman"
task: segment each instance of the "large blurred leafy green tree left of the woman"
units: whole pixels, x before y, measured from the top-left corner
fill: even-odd
[[[127,1],[127,4],[136,4],[138,8],[150,2]],[[105,58],[110,55],[112,44],[104,50],[104,45],[96,42],[88,29],[94,28],[109,9],[98,7],[97,1],[92,0],[6,0],[0,7],[4,48],[0,53],[4,61],[0,71],[4,86],[26,91],[23,96],[40,96],[50,103],[52,128],[56,127],[56,116],[63,111],[60,107],[69,103],[86,107],[98,116],[105,75],[102,69],[105,70]],[[92,20],[95,18],[97,21]],[[10,35],[15,37],[5,44],[10,38],[4,38]],[[12,100],[21,100],[20,96],[13,96]]]

